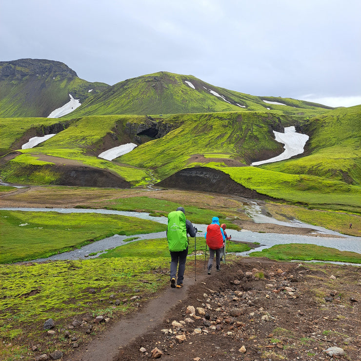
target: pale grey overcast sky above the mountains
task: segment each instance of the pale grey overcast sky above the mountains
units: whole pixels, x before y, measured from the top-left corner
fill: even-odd
[[[58,60],[113,85],[158,71],[361,104],[360,0],[0,0],[0,60]]]

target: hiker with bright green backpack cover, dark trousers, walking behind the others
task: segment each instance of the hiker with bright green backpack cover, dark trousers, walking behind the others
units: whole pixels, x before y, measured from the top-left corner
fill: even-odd
[[[168,214],[167,241],[170,252],[170,286],[172,288],[183,287],[185,261],[188,255],[188,237],[195,237],[197,228],[193,227],[191,221],[185,218],[183,207]],[[179,263],[179,266],[178,266]],[[178,278],[176,285],[176,274],[178,266]]]

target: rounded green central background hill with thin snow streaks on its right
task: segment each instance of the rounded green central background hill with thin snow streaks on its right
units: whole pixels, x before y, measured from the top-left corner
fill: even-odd
[[[185,81],[193,84],[195,89]],[[220,97],[210,93],[216,92]],[[223,97],[223,98],[221,98]],[[278,101],[279,100],[276,98]],[[325,111],[321,104],[285,100],[287,106],[272,106],[278,114],[314,115]],[[74,111],[75,116],[100,114],[185,114],[228,111],[268,111],[260,97],[208,84],[191,75],[168,72],[127,79],[89,98]],[[297,107],[297,109],[295,108]],[[243,108],[245,107],[245,108]]]

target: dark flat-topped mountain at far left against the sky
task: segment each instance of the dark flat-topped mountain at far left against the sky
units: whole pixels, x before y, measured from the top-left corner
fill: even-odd
[[[69,94],[82,102],[108,86],[78,78],[60,61],[0,61],[0,117],[47,117]]]

